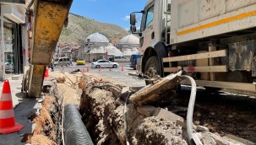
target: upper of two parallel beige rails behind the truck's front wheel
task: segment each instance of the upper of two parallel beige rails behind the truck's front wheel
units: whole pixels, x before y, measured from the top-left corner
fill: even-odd
[[[196,60],[196,59],[214,58],[214,57],[220,57],[220,56],[226,56],[226,50],[204,52],[204,53],[198,53],[198,54],[187,55],[187,56],[166,57],[166,58],[163,58],[163,62],[189,61],[189,60]]]

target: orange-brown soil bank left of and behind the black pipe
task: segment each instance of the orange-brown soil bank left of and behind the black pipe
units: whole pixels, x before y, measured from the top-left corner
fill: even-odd
[[[55,79],[63,78],[64,82],[53,80],[51,85],[44,86],[46,93],[42,107],[30,119],[35,122],[33,133],[26,134],[23,142],[31,144],[55,145],[62,144],[62,116],[63,106],[69,103],[79,105],[82,90],[78,83],[81,74],[72,75],[66,72],[51,73]]]

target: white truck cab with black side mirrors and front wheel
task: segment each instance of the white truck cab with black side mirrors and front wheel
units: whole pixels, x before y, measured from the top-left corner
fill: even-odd
[[[144,10],[130,14],[131,31],[140,36],[139,54],[143,56],[138,69],[150,77],[163,76],[162,58],[167,56],[166,25],[170,22],[168,19],[171,19],[171,0],[168,2],[149,0]],[[142,18],[140,30],[137,30],[135,25],[139,13],[142,13]]]

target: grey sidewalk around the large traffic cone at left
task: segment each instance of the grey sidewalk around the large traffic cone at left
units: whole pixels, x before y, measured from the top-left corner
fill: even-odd
[[[0,135],[0,145],[4,144],[25,144],[21,142],[25,133],[32,133],[35,124],[29,120],[30,115],[35,114],[36,110],[41,108],[41,103],[37,99],[25,99],[24,94],[21,93],[22,78],[19,80],[12,80],[8,78],[11,93],[13,98],[15,121],[22,124],[24,127],[19,132],[14,132],[7,135]],[[3,82],[0,83],[0,91],[2,94]]]

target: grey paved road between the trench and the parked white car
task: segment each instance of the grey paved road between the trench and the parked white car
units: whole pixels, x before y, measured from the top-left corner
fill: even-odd
[[[128,67],[128,65],[123,65],[123,71],[122,71],[122,65],[120,64],[120,67],[117,68],[93,68],[90,67],[90,63],[87,63],[84,66],[76,66],[75,64],[73,66],[69,67],[54,67],[54,71],[67,71],[67,72],[73,72],[74,70],[79,69],[81,72],[84,69],[84,73],[87,73],[87,70],[89,70],[89,73],[102,76],[104,78],[110,78],[117,83],[123,83],[125,85],[128,85],[130,87],[142,87],[145,86],[144,79],[140,79],[138,77],[133,77],[128,75],[128,73],[136,73],[133,68]]]

